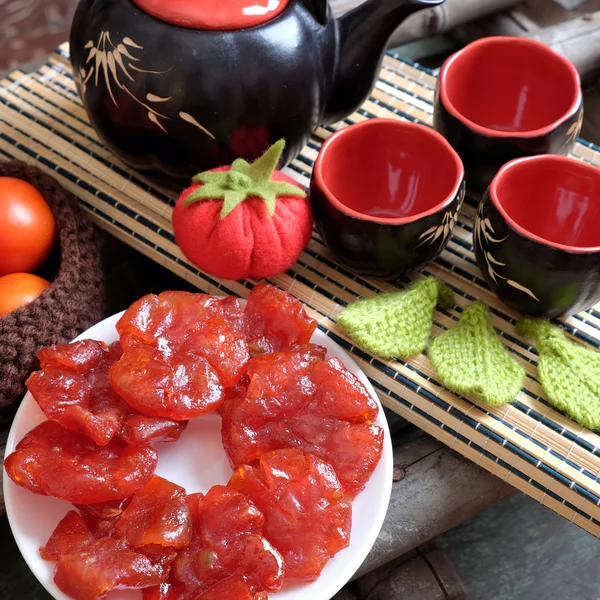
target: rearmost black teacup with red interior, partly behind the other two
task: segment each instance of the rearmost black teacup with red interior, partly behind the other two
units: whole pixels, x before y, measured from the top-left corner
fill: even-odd
[[[453,54],[440,71],[434,128],[462,158],[476,193],[512,159],[568,154],[582,120],[577,70],[541,42],[484,38]]]

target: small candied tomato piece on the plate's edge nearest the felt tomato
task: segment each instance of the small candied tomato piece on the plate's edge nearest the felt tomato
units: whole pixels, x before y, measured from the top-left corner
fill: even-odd
[[[308,344],[317,328],[296,298],[268,283],[259,283],[248,295],[245,321],[253,355]]]

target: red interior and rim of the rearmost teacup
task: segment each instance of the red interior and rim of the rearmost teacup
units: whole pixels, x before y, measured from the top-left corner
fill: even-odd
[[[454,116],[486,133],[542,135],[572,115],[579,75],[540,42],[490,37],[450,57],[440,73],[442,101]]]

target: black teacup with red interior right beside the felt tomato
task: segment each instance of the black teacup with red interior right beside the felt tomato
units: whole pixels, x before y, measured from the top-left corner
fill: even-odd
[[[399,276],[448,242],[464,200],[464,169],[433,129],[369,119],[323,144],[310,195],[340,262],[361,274]]]

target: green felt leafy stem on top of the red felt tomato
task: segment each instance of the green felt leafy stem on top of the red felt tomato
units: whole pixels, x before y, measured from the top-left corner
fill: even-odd
[[[192,181],[203,183],[185,200],[184,206],[202,200],[223,200],[221,219],[248,198],[260,198],[267,206],[267,214],[272,217],[275,213],[277,198],[280,196],[299,196],[306,194],[297,186],[283,181],[273,181],[271,178],[279,160],[285,140],[273,144],[260,158],[252,164],[243,158],[233,161],[228,171],[206,171],[199,173]]]

